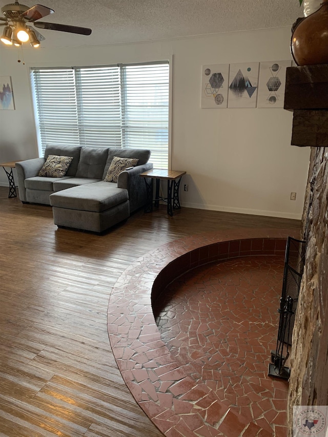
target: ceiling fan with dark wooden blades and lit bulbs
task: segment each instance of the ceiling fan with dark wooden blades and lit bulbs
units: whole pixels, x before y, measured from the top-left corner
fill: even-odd
[[[54,12],[53,9],[42,5],[34,5],[31,8],[18,3],[10,3],[1,8],[5,18],[0,17],[0,26],[5,26],[1,41],[6,45],[21,46],[30,41],[32,47],[39,47],[40,41],[45,39],[37,30],[28,26],[33,24],[38,29],[59,30],[61,32],[90,35],[91,29],[86,27],[67,26],[64,24],[46,23],[37,21]]]

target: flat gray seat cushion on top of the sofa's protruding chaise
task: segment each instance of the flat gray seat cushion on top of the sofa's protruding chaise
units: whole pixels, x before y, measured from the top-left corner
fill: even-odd
[[[53,193],[51,206],[70,210],[102,212],[129,200],[128,190],[104,181],[74,186]]]

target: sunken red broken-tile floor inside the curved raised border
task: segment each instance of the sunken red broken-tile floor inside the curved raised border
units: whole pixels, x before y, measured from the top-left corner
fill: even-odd
[[[198,267],[168,286],[156,320],[180,368],[243,417],[240,430],[254,422],[254,433],[263,428],[269,435],[286,435],[288,384],[267,377],[283,262],[255,256]],[[217,412],[208,411],[206,421],[213,426]],[[218,427],[223,435],[231,435],[227,423],[228,417]]]

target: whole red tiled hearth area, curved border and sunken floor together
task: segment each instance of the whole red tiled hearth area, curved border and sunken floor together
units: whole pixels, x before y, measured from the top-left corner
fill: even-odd
[[[115,284],[108,332],[116,362],[167,437],[287,435],[288,386],[267,369],[289,235],[298,237],[262,229],[176,240]]]

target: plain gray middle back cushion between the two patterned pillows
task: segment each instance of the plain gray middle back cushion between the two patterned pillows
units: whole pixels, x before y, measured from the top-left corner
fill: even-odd
[[[103,179],[107,157],[108,148],[83,147],[75,176]]]

